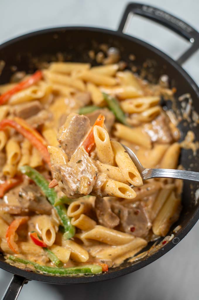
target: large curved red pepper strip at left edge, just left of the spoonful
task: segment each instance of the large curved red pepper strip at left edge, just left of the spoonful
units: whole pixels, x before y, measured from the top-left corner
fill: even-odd
[[[7,126],[14,128],[25,138],[27,138],[30,141],[30,143],[40,152],[43,160],[48,164],[49,167],[51,167],[50,155],[47,150],[47,144],[38,131],[32,128],[27,122],[25,122],[21,118],[14,118],[14,120],[2,120],[0,122],[0,131],[4,130]]]

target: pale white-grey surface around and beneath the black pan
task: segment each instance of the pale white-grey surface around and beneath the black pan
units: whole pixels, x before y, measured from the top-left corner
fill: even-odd
[[[84,25],[116,30],[125,4],[121,0],[0,0],[0,43],[23,33],[37,29]],[[137,2],[140,2],[137,0]],[[198,0],[145,0],[179,16],[199,30]],[[148,25],[135,17],[129,34],[149,41],[172,57],[177,58],[187,47],[182,39],[162,27]],[[199,84],[199,53],[184,64],[186,71]],[[25,285],[19,300],[109,299],[109,300],[197,300],[199,298],[199,223],[186,238],[156,262],[147,267],[114,280],[59,286],[36,281]],[[12,274],[0,270],[0,297]]]

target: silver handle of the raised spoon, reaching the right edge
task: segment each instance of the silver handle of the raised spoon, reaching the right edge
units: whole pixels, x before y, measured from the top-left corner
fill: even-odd
[[[172,169],[145,169],[142,174],[142,179],[147,180],[150,178],[177,178],[186,179],[199,182],[199,172],[172,170]]]

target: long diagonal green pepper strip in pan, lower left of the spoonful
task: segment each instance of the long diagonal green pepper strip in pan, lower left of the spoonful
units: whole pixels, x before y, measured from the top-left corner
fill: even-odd
[[[37,170],[31,168],[30,166],[22,166],[20,167],[20,171],[22,174],[25,174],[32,179],[38,185],[38,187],[40,187],[51,205],[54,205],[57,199],[57,193],[55,192],[54,188],[48,187],[48,180],[46,180]],[[57,205],[55,206],[55,209],[57,210],[57,213],[63,223],[65,230],[65,233],[63,234],[64,239],[72,238],[75,235],[75,226],[71,224],[71,218],[67,216],[66,207],[64,205]]]

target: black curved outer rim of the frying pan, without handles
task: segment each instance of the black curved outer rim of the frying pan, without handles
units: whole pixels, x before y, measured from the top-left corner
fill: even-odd
[[[144,46],[145,48],[153,51],[156,55],[159,55],[161,58],[163,58],[167,63],[172,64],[172,66],[177,69],[178,72],[181,73],[181,75],[186,79],[186,81],[189,83],[189,85],[192,86],[192,88],[195,91],[195,94],[199,98],[199,88],[195,81],[192,79],[192,77],[183,69],[183,67],[180,66],[176,61],[174,61],[173,58],[169,57],[167,54],[162,52],[161,50],[157,49],[156,47],[138,39],[133,36],[118,32],[118,31],[113,31],[110,29],[103,29],[103,28],[96,28],[96,27],[85,27],[85,26],[64,26],[64,27],[53,27],[53,28],[47,28],[47,29],[41,29],[37,31],[33,31],[30,33],[26,33],[24,35],[19,35],[16,38],[13,38],[11,40],[5,41],[3,44],[0,45],[0,50],[4,49],[6,46],[10,46],[14,44],[15,42],[25,40],[26,38],[35,36],[35,35],[42,35],[45,33],[50,33],[50,32],[62,32],[62,31],[67,31],[67,30],[87,30],[87,31],[92,31],[92,32],[101,32],[105,34],[111,34],[116,37],[121,37],[121,38],[126,38],[132,42],[136,42],[137,44],[140,44]],[[192,229],[192,227],[195,225],[195,223],[199,219],[199,207],[195,210],[192,218],[189,220],[189,222],[186,224],[186,227],[179,232],[179,234],[175,235],[176,238],[179,238],[179,241],[181,241],[187,233]],[[146,265],[149,265],[151,262],[154,262],[156,259],[159,257],[163,256],[165,253],[167,253],[169,250],[171,250],[176,243],[170,241],[168,244],[165,245],[162,250],[159,250],[155,253],[153,253],[151,256],[148,258],[138,261],[134,263],[131,266],[128,266],[126,268],[116,270],[116,271],[111,271],[110,273],[103,273],[103,274],[96,274],[93,276],[82,276],[82,277],[58,277],[58,276],[49,276],[49,275],[43,275],[39,274],[36,272],[29,272],[22,270],[20,268],[17,268],[13,265],[9,265],[7,262],[0,261],[0,268],[4,269],[5,271],[11,272],[13,274],[22,276],[27,278],[28,280],[37,280],[37,281],[42,281],[45,283],[55,283],[55,284],[74,284],[74,283],[91,283],[91,282],[97,282],[97,281],[103,281],[103,280],[109,280],[113,279],[116,277],[123,276],[125,274],[132,273]]]

